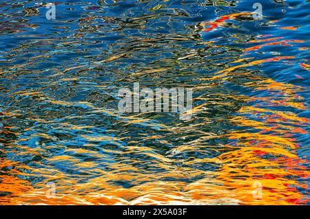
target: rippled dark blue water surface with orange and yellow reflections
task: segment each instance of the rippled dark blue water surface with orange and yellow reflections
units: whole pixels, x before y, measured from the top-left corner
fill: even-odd
[[[310,2],[258,2],[1,1],[0,204],[309,204]]]

